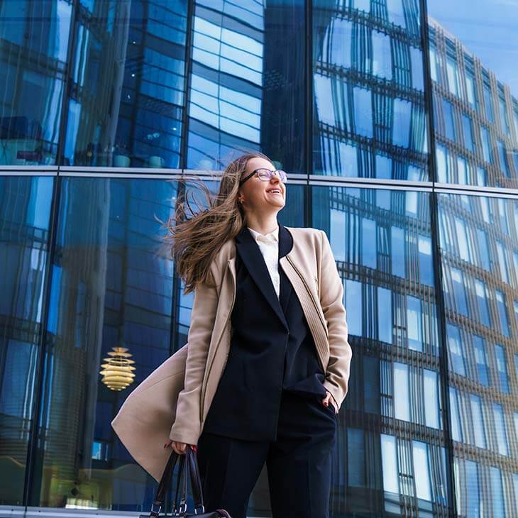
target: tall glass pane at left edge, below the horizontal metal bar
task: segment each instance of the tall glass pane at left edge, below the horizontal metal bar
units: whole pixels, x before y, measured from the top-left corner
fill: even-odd
[[[22,505],[53,177],[0,177],[0,502]]]

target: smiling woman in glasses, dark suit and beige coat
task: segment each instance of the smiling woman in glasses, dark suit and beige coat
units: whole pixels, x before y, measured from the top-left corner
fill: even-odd
[[[273,517],[328,517],[336,414],[351,347],[323,231],[277,223],[286,175],[261,153],[231,162],[209,209],[170,226],[194,290],[170,446],[197,446],[206,509],[245,518],[264,463]]]

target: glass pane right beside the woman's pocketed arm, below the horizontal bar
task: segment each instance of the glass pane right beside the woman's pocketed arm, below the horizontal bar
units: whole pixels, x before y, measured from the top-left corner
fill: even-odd
[[[312,226],[328,233],[354,351],[338,426],[347,479],[336,453],[331,515],[446,516],[437,510],[448,499],[429,194],[311,189]]]

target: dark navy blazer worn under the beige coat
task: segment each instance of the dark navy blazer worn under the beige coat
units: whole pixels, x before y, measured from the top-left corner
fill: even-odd
[[[279,258],[293,237],[279,224]],[[204,431],[275,440],[282,392],[324,397],[325,379],[297,294],[279,266],[277,298],[263,254],[248,228],[236,236],[236,302],[228,361]]]

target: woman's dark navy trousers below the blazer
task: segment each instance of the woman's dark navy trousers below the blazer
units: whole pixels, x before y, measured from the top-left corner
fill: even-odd
[[[329,518],[331,456],[337,414],[317,394],[282,392],[276,441],[245,441],[203,432],[197,444],[207,511],[246,518],[266,462],[273,518]],[[224,419],[224,416],[221,417]]]

